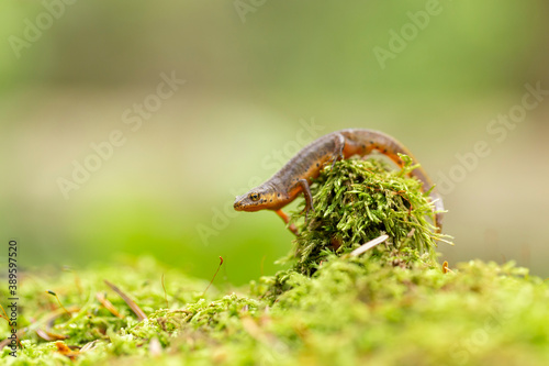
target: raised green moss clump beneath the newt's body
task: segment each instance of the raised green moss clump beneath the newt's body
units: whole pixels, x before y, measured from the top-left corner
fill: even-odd
[[[407,176],[416,166],[401,157],[405,166],[400,170],[378,159],[347,159],[321,173],[311,186],[314,211],[306,221],[303,211],[292,215],[301,222],[296,270],[311,275],[329,252],[341,255],[385,233],[388,247],[435,258],[436,242],[448,236],[436,233],[427,220],[433,206],[421,191],[422,182]]]

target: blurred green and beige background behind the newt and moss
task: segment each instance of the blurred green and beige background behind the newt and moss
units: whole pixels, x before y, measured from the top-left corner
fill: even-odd
[[[219,280],[247,282],[280,268],[292,235],[271,212],[233,212],[235,195],[303,140],[368,127],[405,143],[435,180],[489,143],[445,195],[456,246],[440,245],[444,259],[515,259],[549,276],[549,98],[504,141],[486,131],[526,84],[549,89],[548,10],[544,0],[2,1],[3,241],[19,240],[27,267],[150,253],[210,278],[221,255]],[[380,48],[392,53],[383,65]],[[155,101],[160,75],[173,73],[186,84],[132,131],[125,113]],[[304,130],[312,121],[322,130]],[[74,162],[115,130],[123,145],[66,199],[59,178],[72,180]]]

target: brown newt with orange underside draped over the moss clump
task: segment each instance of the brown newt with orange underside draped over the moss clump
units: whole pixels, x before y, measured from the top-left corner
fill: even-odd
[[[277,174],[261,186],[254,188],[246,195],[236,198],[234,208],[237,211],[273,210],[288,223],[288,215],[282,208],[292,202],[299,193],[305,197],[305,211],[313,209],[313,199],[309,185],[312,178],[316,178],[324,166],[335,163],[340,158],[349,158],[354,155],[366,156],[373,149],[386,155],[400,167],[403,166],[399,153],[410,156],[414,163],[416,158],[395,138],[373,130],[349,129],[335,131],[313,141],[303,147],[290,159]],[[423,182],[423,190],[428,191],[433,187],[427,173],[422,168],[414,169],[411,176]],[[436,225],[442,228],[444,204],[440,196],[430,191],[430,199],[435,203]],[[289,228],[298,234],[295,226]]]

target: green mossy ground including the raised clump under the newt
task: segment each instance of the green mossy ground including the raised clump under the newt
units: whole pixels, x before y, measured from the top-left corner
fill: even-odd
[[[408,168],[388,171],[374,160],[327,168],[313,185],[315,211],[306,222],[294,215],[302,235],[289,256],[293,268],[242,292],[212,287],[204,295],[206,281],[150,258],[26,274],[18,324],[23,348],[16,358],[4,348],[1,363],[547,365],[547,282],[512,263],[473,260],[442,270],[435,244],[445,237],[426,219],[430,206],[406,178]],[[382,233],[388,242],[350,255]],[[103,279],[147,319],[138,321]],[[105,293],[120,317],[99,300]]]

